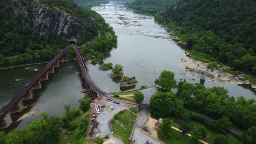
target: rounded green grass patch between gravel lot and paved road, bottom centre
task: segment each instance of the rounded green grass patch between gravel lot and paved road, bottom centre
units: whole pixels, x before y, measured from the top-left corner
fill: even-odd
[[[114,134],[119,135],[125,144],[131,143],[131,140],[129,139],[133,127],[133,123],[130,122],[131,118],[136,118],[136,115],[134,115],[131,111],[120,111],[118,115],[115,115],[114,119],[112,120]],[[119,122],[116,123],[116,120]],[[124,126],[121,127],[120,124],[124,124]]]

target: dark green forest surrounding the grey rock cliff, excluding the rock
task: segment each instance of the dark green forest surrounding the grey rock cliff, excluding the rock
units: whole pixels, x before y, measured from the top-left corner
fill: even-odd
[[[105,31],[109,27],[98,13],[90,10],[90,7],[79,7],[72,0],[39,2],[50,10],[60,10],[79,19],[86,28],[77,36],[78,44],[89,42],[98,36],[97,29]],[[21,7],[26,7],[28,12],[34,9],[34,3],[26,0],[6,1],[0,5],[0,67],[49,62],[68,44],[68,37],[63,33],[36,29],[33,26],[35,17],[32,13],[16,14],[13,7],[20,6],[19,3]]]

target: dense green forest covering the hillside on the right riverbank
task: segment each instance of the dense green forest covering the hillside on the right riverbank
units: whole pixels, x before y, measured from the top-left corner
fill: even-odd
[[[155,18],[187,42],[197,59],[256,74],[255,13],[255,0],[177,0]]]

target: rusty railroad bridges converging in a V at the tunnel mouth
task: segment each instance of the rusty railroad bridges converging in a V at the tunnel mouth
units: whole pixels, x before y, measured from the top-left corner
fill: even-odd
[[[73,46],[73,48],[75,49],[77,62],[79,64],[79,68],[81,69],[83,79],[85,80],[85,87],[89,92],[89,96],[91,100],[95,100],[98,96],[104,96],[109,100],[112,100],[115,102],[126,103],[129,105],[136,105],[142,108],[148,107],[148,105],[136,104],[133,102],[121,101],[121,100],[112,98],[109,93],[104,92],[100,88],[98,88],[97,85],[95,85],[95,83],[92,81],[91,77],[89,76],[87,72],[87,66],[86,66],[86,63],[84,62],[82,53],[75,45],[75,42],[76,42],[76,39],[70,39],[69,40],[70,45],[66,46],[65,49],[59,52],[59,54],[51,62],[49,62],[32,80],[30,80],[30,82],[28,82],[20,92],[18,92],[12,99],[10,99],[10,101],[7,102],[7,104],[5,104],[2,108],[0,108],[0,129],[4,129],[8,127],[5,117],[8,114],[13,115],[20,111],[23,111],[23,108],[20,105],[20,102],[32,99],[33,98],[32,91],[34,89],[41,88],[40,82],[48,80],[48,74],[54,73],[54,68],[60,66],[59,62],[64,62],[64,56],[66,56],[66,52],[69,46]]]

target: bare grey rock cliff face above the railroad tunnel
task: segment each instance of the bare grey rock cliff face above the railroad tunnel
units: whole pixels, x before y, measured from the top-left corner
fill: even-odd
[[[78,18],[69,16],[60,10],[51,10],[37,0],[27,4],[17,2],[14,4],[14,13],[16,15],[30,15],[32,25],[36,29],[57,32],[58,34],[63,33],[69,39],[76,38],[79,32],[87,27]],[[23,26],[30,25],[25,21],[22,24]]]

